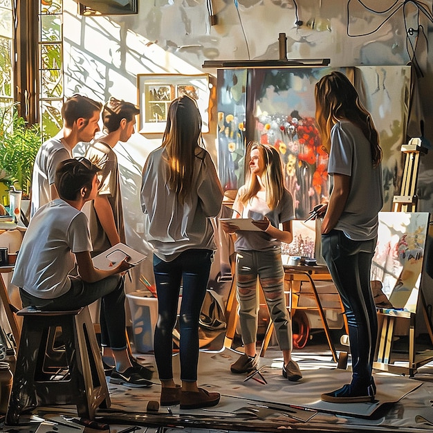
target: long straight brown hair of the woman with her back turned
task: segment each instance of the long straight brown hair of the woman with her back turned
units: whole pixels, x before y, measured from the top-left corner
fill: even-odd
[[[176,98],[169,106],[163,147],[169,166],[168,185],[184,203],[192,193],[196,150],[203,147],[200,111],[187,95]]]

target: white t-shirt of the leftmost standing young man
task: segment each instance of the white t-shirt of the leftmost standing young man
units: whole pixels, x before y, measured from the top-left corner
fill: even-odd
[[[62,143],[63,133],[42,144],[36,154],[32,176],[32,203],[30,216],[50,201],[50,185],[55,181],[57,164],[72,158],[71,150]]]

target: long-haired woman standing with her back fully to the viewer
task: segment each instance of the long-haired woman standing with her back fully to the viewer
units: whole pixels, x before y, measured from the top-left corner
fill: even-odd
[[[149,154],[142,172],[141,205],[147,241],[154,247],[158,293],[155,360],[161,381],[160,404],[181,409],[214,406],[217,392],[197,386],[199,316],[216,250],[210,218],[219,214],[223,190],[212,159],[203,148],[201,116],[192,98],[170,104],[163,145]],[[172,331],[179,292],[180,387],[172,368]]]

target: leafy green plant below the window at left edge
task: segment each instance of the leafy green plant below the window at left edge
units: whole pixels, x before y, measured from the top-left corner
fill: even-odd
[[[22,191],[23,199],[30,196],[33,163],[41,144],[39,125],[28,125],[16,104],[0,109],[0,174],[8,187]]]

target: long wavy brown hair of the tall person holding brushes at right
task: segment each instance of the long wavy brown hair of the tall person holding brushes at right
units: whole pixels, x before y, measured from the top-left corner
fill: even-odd
[[[325,75],[315,85],[315,119],[326,151],[331,150],[331,129],[339,120],[349,120],[358,126],[371,147],[374,166],[382,159],[378,131],[370,113],[362,106],[358,92],[340,71]]]

